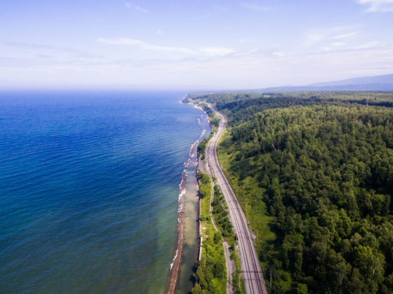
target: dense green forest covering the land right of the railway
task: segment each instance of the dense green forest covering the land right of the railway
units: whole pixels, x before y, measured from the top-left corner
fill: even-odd
[[[393,293],[392,93],[196,98],[228,118],[227,176],[274,232],[256,246],[270,293]]]

